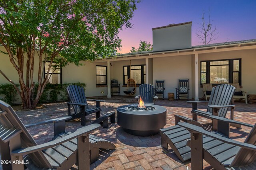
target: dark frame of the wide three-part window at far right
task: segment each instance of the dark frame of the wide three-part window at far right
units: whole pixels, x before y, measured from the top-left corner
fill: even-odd
[[[234,71],[234,60],[239,61],[239,71]],[[202,74],[206,73],[206,83],[210,83],[210,62],[212,61],[228,61],[228,64],[221,64],[221,65],[228,65],[228,83],[233,83],[233,73],[238,72],[238,83],[240,86],[242,86],[242,60],[241,58],[239,59],[220,59],[220,60],[205,60],[205,61],[200,61],[200,84],[202,85]],[[206,62],[206,72],[202,72],[202,62]],[[212,65],[212,66],[219,66],[219,65]],[[213,83],[212,85],[220,85],[220,84],[225,84],[225,83]]]

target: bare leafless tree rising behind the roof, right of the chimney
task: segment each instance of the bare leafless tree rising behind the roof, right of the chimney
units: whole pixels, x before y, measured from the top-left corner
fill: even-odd
[[[202,42],[202,44],[209,44],[210,41],[213,41],[218,38],[218,32],[216,26],[212,26],[210,21],[210,9],[209,9],[209,17],[208,22],[204,19],[204,11],[202,12],[202,23],[198,23],[200,25],[200,30],[196,31],[196,37],[198,37]]]

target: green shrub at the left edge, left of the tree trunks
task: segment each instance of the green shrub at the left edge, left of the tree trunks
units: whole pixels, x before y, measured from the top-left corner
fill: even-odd
[[[20,86],[19,84],[16,84],[16,86]],[[0,94],[4,95],[3,100],[4,102],[12,105],[17,100],[17,90],[12,84],[0,84]]]

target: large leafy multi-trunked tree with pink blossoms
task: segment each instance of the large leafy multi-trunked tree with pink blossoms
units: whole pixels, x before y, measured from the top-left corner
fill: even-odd
[[[51,76],[68,63],[93,61],[121,47],[118,32],[132,27],[138,0],[1,0],[0,44],[14,66],[24,109],[36,107]],[[39,62],[37,62],[39,61]],[[44,62],[45,61],[45,62]],[[48,70],[43,72],[44,63]],[[35,64],[38,64],[35,67]],[[38,70],[35,70],[38,68]],[[54,68],[54,70],[51,70]],[[31,100],[37,78],[36,98]]]

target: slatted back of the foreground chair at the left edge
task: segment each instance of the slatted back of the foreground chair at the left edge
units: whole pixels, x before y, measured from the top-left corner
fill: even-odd
[[[0,129],[0,149],[2,156],[10,155],[10,150],[37,145],[12,107],[1,100]],[[38,166],[52,168],[42,151],[28,154],[28,156]],[[4,159],[2,158],[2,160]]]

